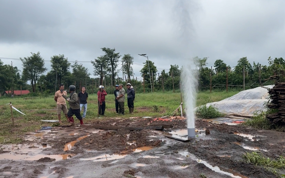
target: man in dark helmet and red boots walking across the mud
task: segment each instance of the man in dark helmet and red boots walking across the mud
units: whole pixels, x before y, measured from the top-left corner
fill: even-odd
[[[83,124],[82,116],[80,115],[80,104],[78,100],[78,95],[75,92],[76,87],[74,85],[69,86],[69,97],[62,95],[69,102],[69,110],[67,112],[68,119],[71,124],[74,125],[73,115],[79,119],[80,124]]]

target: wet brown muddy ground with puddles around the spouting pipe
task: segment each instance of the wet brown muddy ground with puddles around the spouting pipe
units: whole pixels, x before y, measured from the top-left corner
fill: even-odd
[[[165,132],[187,135],[183,118],[153,120],[107,119],[85,125],[165,125],[172,126]],[[189,142],[167,138],[154,130],[100,130],[78,125],[29,133],[23,136],[26,141],[22,144],[0,146],[0,178],[278,177],[247,163],[242,155],[259,150],[265,157],[277,158],[285,150],[284,132],[205,120],[196,120],[195,127],[196,138]],[[205,129],[211,134],[205,135]]]

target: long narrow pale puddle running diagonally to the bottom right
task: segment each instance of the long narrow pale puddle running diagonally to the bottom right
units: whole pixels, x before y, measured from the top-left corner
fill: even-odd
[[[234,178],[248,178],[246,176],[243,176],[237,172],[234,172],[232,170],[227,170],[227,169],[223,169],[221,167],[218,166],[212,166],[209,163],[207,163],[207,161],[198,159],[197,157],[195,157],[195,155],[190,154],[187,151],[182,151],[182,152],[178,152],[179,154],[181,154],[182,156],[186,156],[186,157],[190,157],[192,160],[197,161],[198,163],[202,163],[203,165],[207,166],[208,168],[210,168],[212,171],[218,172],[218,173],[222,173]]]

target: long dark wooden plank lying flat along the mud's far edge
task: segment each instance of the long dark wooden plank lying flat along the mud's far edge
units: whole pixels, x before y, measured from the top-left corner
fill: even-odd
[[[122,126],[101,126],[101,125],[80,125],[79,127],[87,127],[93,129],[103,129],[103,130],[129,130],[129,131],[139,131],[143,129],[152,129],[152,130],[163,130],[163,126],[147,126],[147,127],[122,127]]]

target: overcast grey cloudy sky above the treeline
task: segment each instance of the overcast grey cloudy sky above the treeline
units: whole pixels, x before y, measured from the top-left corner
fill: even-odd
[[[138,54],[158,73],[194,56],[209,57],[209,67],[217,59],[234,67],[245,56],[268,65],[269,56],[285,58],[284,7],[284,0],[0,0],[0,58],[40,51],[45,60],[64,54],[80,63],[116,48],[134,57],[138,78],[146,61]],[[91,63],[82,64],[93,77]]]

